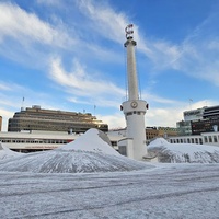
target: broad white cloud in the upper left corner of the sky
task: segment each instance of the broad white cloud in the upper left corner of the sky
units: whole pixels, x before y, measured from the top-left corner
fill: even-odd
[[[41,43],[67,47],[72,39],[65,32],[59,32],[34,13],[27,13],[12,3],[0,3],[0,43],[11,37],[26,45]]]

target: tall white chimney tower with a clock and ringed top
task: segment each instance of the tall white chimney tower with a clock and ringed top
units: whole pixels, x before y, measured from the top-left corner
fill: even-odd
[[[127,155],[135,160],[142,160],[147,155],[145,114],[147,102],[139,100],[138,77],[136,70],[136,56],[132,24],[126,27],[127,50],[127,79],[128,79],[128,100],[122,104],[127,124]],[[125,141],[124,141],[125,142]],[[123,145],[123,142],[120,142]]]

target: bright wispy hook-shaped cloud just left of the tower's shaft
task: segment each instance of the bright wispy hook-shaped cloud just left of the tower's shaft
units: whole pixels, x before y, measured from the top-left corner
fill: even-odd
[[[112,101],[107,101],[108,96],[111,96],[111,100],[116,100],[125,93],[111,81],[101,79],[100,73],[87,72],[85,67],[81,66],[77,59],[73,60],[70,72],[64,69],[59,58],[51,59],[50,66],[50,78],[71,95],[89,97],[99,102],[99,104],[106,104],[107,102],[111,104]],[[74,97],[73,101],[76,100]]]

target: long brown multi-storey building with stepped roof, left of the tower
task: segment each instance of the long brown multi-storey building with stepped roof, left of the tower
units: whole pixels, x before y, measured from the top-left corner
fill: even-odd
[[[108,131],[108,125],[90,113],[44,110],[37,105],[16,112],[8,124],[8,131],[47,130],[79,134],[90,128]]]

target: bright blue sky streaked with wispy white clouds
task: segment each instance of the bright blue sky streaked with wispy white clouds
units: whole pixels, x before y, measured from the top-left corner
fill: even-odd
[[[22,104],[125,127],[129,23],[146,126],[175,127],[184,111],[219,105],[218,11],[218,0],[0,0],[3,130]]]

